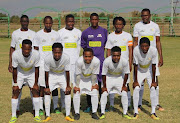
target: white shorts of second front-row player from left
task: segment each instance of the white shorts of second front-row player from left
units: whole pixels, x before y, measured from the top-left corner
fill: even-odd
[[[63,91],[66,90],[66,76],[65,74],[52,74],[49,73],[49,89],[52,92],[56,88],[61,88]]]

